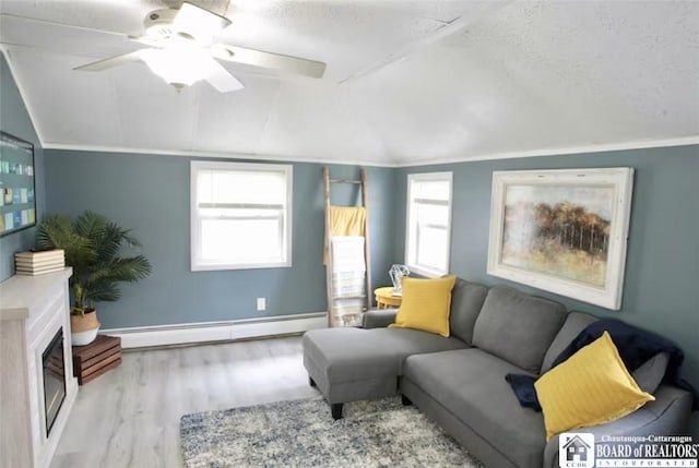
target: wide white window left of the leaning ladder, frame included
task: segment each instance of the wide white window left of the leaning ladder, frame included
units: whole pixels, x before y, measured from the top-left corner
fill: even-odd
[[[191,163],[191,269],[292,265],[292,166]]]

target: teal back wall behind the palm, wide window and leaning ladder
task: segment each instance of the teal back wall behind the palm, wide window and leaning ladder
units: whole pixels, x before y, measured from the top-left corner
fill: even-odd
[[[322,166],[294,164],[293,267],[190,272],[189,161],[179,156],[46,151],[47,211],[93,209],[133,228],[152,275],[98,304],[104,328],[212,322],[325,311]],[[358,168],[332,166],[333,177]],[[374,284],[386,284],[392,253],[393,170],[369,168]],[[335,204],[359,202],[356,185],[335,187]],[[386,276],[386,278],[383,278]],[[266,311],[256,311],[256,298]]]

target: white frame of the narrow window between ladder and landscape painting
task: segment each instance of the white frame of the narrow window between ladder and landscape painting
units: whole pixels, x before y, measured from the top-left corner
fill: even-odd
[[[417,263],[418,251],[417,251],[417,240],[413,238],[418,236],[417,232],[417,221],[413,223],[413,217],[415,216],[414,212],[414,203],[413,203],[413,183],[414,182],[425,182],[425,181],[441,181],[449,183],[449,200],[447,201],[447,265],[446,271],[440,271],[437,268],[431,268],[426,265],[420,265]],[[407,185],[406,185],[406,203],[405,203],[405,265],[410,268],[411,273],[416,273],[422,276],[426,276],[428,278],[436,278],[439,276],[443,276],[449,273],[449,268],[451,265],[451,220],[452,220],[452,207],[453,207],[453,172],[445,171],[445,172],[422,172],[422,173],[408,173],[407,175]],[[413,225],[415,226],[415,232],[413,231]],[[415,244],[414,255],[411,252],[412,245]]]

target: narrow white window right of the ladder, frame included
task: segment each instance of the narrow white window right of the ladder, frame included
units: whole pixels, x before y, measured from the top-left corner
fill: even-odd
[[[436,277],[449,272],[451,172],[407,176],[405,262],[412,272]]]

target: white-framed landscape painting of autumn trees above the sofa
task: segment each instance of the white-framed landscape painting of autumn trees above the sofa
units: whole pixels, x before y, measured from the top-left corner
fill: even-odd
[[[493,172],[488,274],[621,307],[632,168]]]

